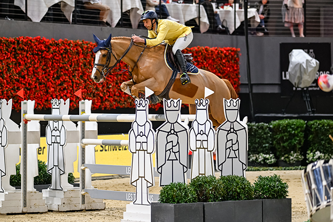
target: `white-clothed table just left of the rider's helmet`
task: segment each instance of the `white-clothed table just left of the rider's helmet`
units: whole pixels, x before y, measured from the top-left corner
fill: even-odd
[[[111,27],[115,27],[121,18],[120,0],[101,0],[102,4],[110,7],[108,23]],[[130,10],[130,19],[132,28],[136,29],[140,22],[143,7],[140,0],[122,0],[122,12]]]

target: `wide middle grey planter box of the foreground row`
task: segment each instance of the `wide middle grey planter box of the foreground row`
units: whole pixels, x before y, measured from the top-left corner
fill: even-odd
[[[262,200],[204,203],[205,222],[262,222]]]

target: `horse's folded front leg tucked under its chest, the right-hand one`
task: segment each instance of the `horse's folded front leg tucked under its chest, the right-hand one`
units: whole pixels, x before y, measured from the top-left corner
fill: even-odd
[[[161,90],[161,86],[163,87],[164,84],[157,82],[156,79],[154,77],[152,77],[152,78],[144,80],[141,83],[133,85],[131,92],[134,96],[139,97],[139,92],[144,92],[144,87],[147,87],[154,92],[160,92],[163,90],[163,89]],[[151,99],[152,99],[152,103],[154,103],[154,104],[159,102],[159,98],[155,94],[153,94],[151,96]]]

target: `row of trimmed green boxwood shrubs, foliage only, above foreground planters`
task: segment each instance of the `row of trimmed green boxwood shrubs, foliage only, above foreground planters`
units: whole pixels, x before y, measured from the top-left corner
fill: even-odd
[[[252,185],[245,177],[228,175],[198,176],[189,185],[171,183],[159,195],[160,203],[184,204],[225,200],[286,198],[288,185],[280,176],[259,176]]]

